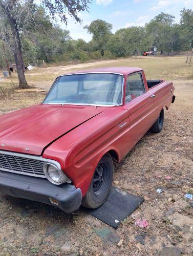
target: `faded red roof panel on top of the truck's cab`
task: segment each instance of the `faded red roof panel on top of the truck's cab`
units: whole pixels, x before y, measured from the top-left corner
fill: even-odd
[[[121,75],[128,75],[132,74],[134,72],[139,72],[142,71],[143,69],[141,68],[136,68],[136,67],[105,67],[105,68],[95,68],[95,69],[89,69],[89,70],[81,70],[81,71],[76,71],[68,74],[64,74],[61,76],[65,75],[70,75],[70,74],[81,74],[81,73],[117,73]]]

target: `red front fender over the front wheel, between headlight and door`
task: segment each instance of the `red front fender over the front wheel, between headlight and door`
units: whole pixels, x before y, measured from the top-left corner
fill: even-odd
[[[120,123],[125,123],[122,129]],[[113,150],[121,159],[127,153],[128,124],[127,110],[112,107],[55,141],[43,156],[58,161],[84,196],[102,156]]]

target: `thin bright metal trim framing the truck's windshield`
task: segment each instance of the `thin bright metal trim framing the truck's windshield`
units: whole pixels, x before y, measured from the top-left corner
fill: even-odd
[[[47,103],[45,102],[45,100],[47,99],[48,97],[48,94],[49,92],[51,91],[52,87],[55,86],[55,83],[57,82],[58,78],[59,77],[62,77],[62,76],[72,76],[72,75],[81,75],[81,74],[115,74],[115,75],[120,75],[120,76],[123,76],[123,82],[122,82],[122,98],[121,98],[121,103],[119,104],[86,104],[86,103]],[[50,104],[50,105],[83,105],[83,106],[122,106],[123,105],[123,95],[124,95],[124,75],[123,74],[120,74],[120,73],[116,73],[116,72],[85,72],[85,73],[72,73],[72,74],[66,74],[66,75],[61,75],[61,76],[57,76],[55,81],[53,82],[52,86],[50,87],[45,99],[41,102],[41,104]]]

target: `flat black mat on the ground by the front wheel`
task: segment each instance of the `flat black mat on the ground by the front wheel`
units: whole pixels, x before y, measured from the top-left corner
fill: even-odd
[[[91,215],[104,223],[117,228],[144,201],[143,198],[112,187],[105,203],[97,209],[86,209]]]

